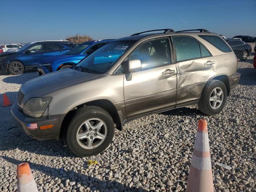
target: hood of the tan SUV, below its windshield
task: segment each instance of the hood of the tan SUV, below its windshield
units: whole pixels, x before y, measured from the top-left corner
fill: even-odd
[[[85,82],[98,75],[67,68],[29,80],[21,86],[20,91],[25,95],[24,101],[26,101],[29,98],[41,97],[72,84]]]

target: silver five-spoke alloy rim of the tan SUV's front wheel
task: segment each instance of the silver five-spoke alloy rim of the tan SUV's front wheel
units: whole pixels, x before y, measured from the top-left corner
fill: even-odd
[[[106,124],[98,118],[92,118],[79,126],[76,140],[82,148],[93,149],[102,144],[106,135]]]

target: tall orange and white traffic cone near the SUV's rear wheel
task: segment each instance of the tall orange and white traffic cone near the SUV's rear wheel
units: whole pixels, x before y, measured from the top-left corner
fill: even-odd
[[[200,119],[186,192],[214,192],[207,121]]]

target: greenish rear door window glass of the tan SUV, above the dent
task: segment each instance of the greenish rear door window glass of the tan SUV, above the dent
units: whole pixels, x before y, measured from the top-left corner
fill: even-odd
[[[196,59],[211,54],[197,40],[188,36],[174,36],[174,42],[177,61]]]

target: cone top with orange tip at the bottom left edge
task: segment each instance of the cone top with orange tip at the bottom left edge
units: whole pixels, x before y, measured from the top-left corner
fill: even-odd
[[[36,182],[28,163],[19,164],[17,167],[18,192],[38,192]]]

